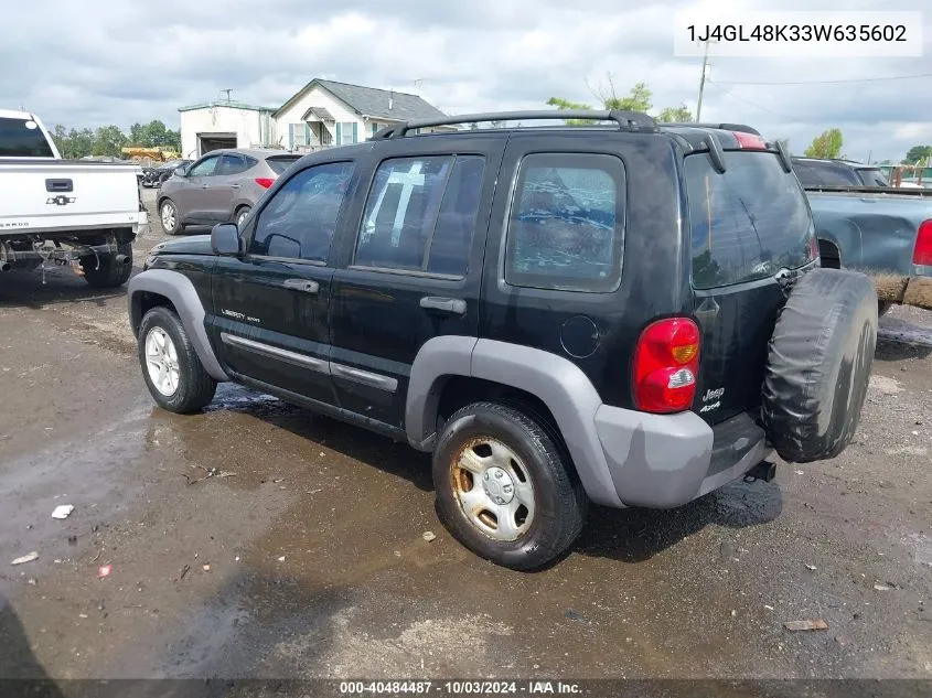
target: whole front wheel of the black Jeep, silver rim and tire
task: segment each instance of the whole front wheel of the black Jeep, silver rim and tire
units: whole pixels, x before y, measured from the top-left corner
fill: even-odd
[[[174,311],[159,305],[146,313],[137,343],[146,386],[159,407],[184,415],[214,399],[217,382],[204,369]]]

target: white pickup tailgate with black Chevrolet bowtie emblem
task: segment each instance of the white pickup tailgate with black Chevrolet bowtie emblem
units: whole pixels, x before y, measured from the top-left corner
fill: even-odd
[[[0,160],[0,237],[133,226],[140,222],[137,171],[100,162]]]

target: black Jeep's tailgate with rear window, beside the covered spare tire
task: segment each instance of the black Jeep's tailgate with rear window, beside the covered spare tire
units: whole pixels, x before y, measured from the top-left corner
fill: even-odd
[[[726,151],[684,159],[695,315],[703,333],[694,411],[717,423],[760,406],[768,343],[783,284],[812,267],[812,215],[776,154]]]

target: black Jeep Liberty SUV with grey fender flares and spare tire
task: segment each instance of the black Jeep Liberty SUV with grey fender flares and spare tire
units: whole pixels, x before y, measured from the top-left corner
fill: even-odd
[[[592,125],[416,133],[568,118]],[[164,409],[235,380],[405,440],[450,531],[532,569],[589,501],[675,507],[771,479],[774,450],[842,452],[877,298],[817,249],[749,127],[468,115],[302,158],[243,229],[158,245],[129,308]]]

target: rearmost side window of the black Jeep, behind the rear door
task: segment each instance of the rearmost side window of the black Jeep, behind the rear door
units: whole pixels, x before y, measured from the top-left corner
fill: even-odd
[[[601,154],[524,158],[508,217],[505,281],[609,292],[621,280],[624,167]]]

